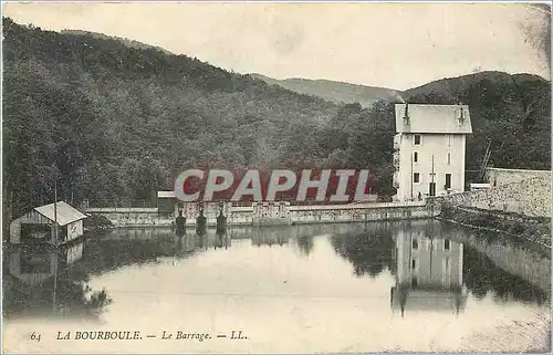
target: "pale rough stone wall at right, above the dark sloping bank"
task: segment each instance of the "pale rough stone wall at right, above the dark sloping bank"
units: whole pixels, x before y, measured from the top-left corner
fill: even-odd
[[[505,171],[492,173],[498,181],[495,187],[441,196],[436,200],[453,206],[514,212],[530,217],[551,217],[551,171],[530,170],[528,175],[520,170]]]

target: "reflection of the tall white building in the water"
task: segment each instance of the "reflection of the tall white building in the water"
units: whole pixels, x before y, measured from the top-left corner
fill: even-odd
[[[442,238],[435,221],[405,223],[395,236],[396,285],[393,310],[459,313],[467,294],[462,286],[462,244]]]

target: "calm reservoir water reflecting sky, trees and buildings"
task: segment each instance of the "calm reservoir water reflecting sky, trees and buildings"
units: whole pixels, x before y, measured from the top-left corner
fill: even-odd
[[[58,252],[12,248],[3,258],[4,348],[547,349],[549,258],[477,233],[440,221],[237,227],[185,237],[118,229]],[[75,340],[76,332],[88,340]]]

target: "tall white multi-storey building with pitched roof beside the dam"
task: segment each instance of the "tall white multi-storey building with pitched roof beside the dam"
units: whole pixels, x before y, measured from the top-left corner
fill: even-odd
[[[416,200],[465,191],[467,105],[396,104],[396,199]]]

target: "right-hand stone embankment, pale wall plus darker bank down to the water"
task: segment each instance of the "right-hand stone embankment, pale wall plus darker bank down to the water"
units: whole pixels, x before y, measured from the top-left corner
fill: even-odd
[[[489,189],[434,198],[438,218],[500,233],[551,258],[551,171],[487,169]]]

